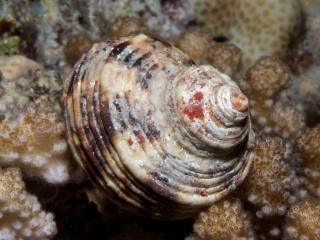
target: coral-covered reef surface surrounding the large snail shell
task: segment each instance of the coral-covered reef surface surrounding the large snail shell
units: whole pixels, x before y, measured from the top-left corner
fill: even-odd
[[[94,43],[144,33],[228,75],[248,97],[255,158],[193,218],[123,210],[66,138],[63,84]],[[1,239],[319,239],[316,0],[0,1]]]

